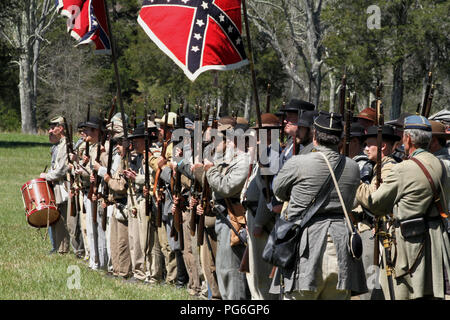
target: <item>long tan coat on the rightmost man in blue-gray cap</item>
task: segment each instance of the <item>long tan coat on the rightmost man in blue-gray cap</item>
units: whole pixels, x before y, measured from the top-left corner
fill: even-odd
[[[439,185],[442,177],[443,191],[448,195],[450,180],[447,173],[444,172],[443,175],[439,160],[431,153],[420,149],[412,156],[420,160],[428,169],[436,186]],[[382,216],[393,212],[394,218],[401,221],[425,215],[437,217],[438,212],[432,200],[430,183],[420,167],[412,160],[405,160],[392,168],[380,188],[369,195],[367,204],[374,214]],[[397,280],[394,280],[395,298],[416,299],[426,295],[443,298],[444,265],[447,274],[450,274],[450,243],[442,220],[428,221],[426,235],[418,236],[417,239],[405,239],[400,228],[395,228],[394,235],[397,255],[394,264]],[[422,243],[424,243],[424,250],[420,253]],[[412,276],[406,274],[413,266]],[[382,281],[386,279],[384,272],[380,273],[380,279]],[[383,282],[382,288],[385,296],[388,297],[388,290]]]

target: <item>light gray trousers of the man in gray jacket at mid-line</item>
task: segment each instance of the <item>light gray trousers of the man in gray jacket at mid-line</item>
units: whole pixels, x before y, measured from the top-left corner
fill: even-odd
[[[247,279],[239,272],[244,245],[230,245],[230,228],[219,218],[216,219],[217,233],[216,274],[220,295],[223,300],[248,300]]]

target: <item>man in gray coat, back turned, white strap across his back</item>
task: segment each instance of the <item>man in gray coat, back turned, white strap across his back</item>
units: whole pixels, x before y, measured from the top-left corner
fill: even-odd
[[[273,181],[275,196],[289,201],[279,219],[298,219],[313,199],[319,202],[315,197],[330,174],[319,153],[334,167],[340,158],[338,144],[342,130],[339,114],[320,112],[314,120],[312,152],[293,156]],[[359,168],[349,158],[343,164],[338,185],[348,211],[359,183]],[[331,185],[334,186],[333,182]],[[277,269],[270,292],[281,292],[283,299],[350,299],[352,294],[367,292],[362,263],[348,250],[350,232],[336,189],[331,187],[325,196],[302,229],[294,267]]]

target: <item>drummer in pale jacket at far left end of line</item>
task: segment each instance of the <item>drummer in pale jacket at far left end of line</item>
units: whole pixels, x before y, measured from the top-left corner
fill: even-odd
[[[66,222],[68,200],[68,190],[65,186],[67,150],[63,117],[59,116],[50,120],[48,136],[50,143],[53,144],[51,148],[52,162],[49,171],[41,173],[40,177],[52,182],[56,205],[61,214],[61,218],[49,230],[53,247],[50,254],[55,252],[64,254],[69,252],[69,232]]]

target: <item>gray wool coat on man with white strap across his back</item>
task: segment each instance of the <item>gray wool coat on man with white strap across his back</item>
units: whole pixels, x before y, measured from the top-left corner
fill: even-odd
[[[286,214],[291,220],[308,206],[320,187],[329,175],[327,164],[320,154],[326,155],[332,167],[339,159],[336,150],[324,146],[317,146],[312,152],[294,156],[289,159],[273,181],[275,196],[282,201],[289,201]],[[356,188],[359,185],[358,164],[350,158],[346,163],[338,184],[346,205],[347,211],[352,208]],[[280,272],[283,274],[285,292],[289,291],[316,291],[317,270],[320,269],[322,257],[325,252],[327,235],[329,234],[336,248],[338,259],[337,290],[351,290],[353,295],[367,292],[366,277],[362,262],[355,260],[349,253],[349,230],[345,224],[343,209],[336,190],[333,188],[321,209],[303,228],[298,264],[294,270],[280,270],[272,282],[271,293],[280,293]],[[329,217],[327,217],[329,215]],[[342,217],[336,218],[336,215]]]

